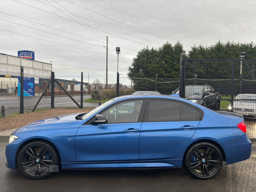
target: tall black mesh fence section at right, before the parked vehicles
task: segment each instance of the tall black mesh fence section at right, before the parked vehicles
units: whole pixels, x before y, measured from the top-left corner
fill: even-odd
[[[244,116],[247,136],[256,139],[256,60],[181,60],[181,97],[215,111]]]

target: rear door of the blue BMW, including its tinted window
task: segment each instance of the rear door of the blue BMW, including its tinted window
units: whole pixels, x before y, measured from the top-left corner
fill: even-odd
[[[148,99],[140,131],[140,160],[176,159],[203,112],[171,99]]]

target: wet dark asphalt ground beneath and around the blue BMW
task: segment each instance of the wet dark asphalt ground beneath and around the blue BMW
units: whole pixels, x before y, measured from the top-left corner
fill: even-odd
[[[185,169],[62,170],[45,180],[29,180],[5,166],[5,145],[0,142],[0,191],[256,191],[256,143],[249,160],[223,166],[217,177],[198,180]]]

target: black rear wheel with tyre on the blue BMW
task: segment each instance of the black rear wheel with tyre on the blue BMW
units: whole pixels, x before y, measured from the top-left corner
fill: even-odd
[[[210,179],[218,175],[223,163],[221,151],[212,143],[197,143],[186,152],[183,165],[195,178]]]

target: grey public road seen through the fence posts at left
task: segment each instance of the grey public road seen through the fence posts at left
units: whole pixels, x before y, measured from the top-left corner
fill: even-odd
[[[38,101],[38,96],[35,97],[24,97],[24,111],[31,111],[35,103]],[[74,95],[73,98],[80,104],[80,95]],[[90,95],[84,95],[83,99],[91,98]],[[20,112],[20,97],[18,96],[3,96],[0,97],[0,106],[5,106],[5,114]],[[68,96],[55,96],[54,99],[55,107],[70,107],[76,108],[77,105]],[[84,108],[95,108],[99,104],[84,103]],[[51,96],[44,96],[36,109],[44,109],[51,107]]]

